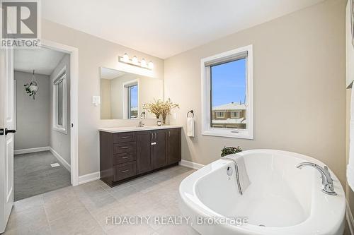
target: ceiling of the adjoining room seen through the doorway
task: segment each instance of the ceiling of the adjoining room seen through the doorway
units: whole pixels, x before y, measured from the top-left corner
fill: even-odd
[[[62,60],[64,53],[52,49],[16,49],[14,50],[14,68],[16,71],[50,75]]]

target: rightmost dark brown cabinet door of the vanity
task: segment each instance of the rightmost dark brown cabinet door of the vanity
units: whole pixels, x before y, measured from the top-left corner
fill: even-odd
[[[167,130],[167,160],[169,164],[181,161],[181,129]]]

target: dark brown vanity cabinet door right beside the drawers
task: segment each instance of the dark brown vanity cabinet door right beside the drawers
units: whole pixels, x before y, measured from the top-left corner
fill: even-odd
[[[137,174],[152,170],[151,157],[151,136],[150,131],[139,132],[137,138]]]

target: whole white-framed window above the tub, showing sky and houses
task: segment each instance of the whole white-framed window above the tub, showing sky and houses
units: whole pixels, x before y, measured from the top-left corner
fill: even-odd
[[[201,60],[203,135],[253,139],[252,58],[250,45]]]

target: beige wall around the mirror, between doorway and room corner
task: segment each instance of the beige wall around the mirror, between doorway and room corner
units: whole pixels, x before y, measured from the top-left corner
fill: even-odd
[[[142,73],[146,69],[118,64],[124,53],[136,55],[154,63],[151,76],[163,78],[164,61],[113,42],[93,37],[84,32],[64,27],[49,20],[42,20],[42,38],[79,49],[79,175],[99,171],[98,128],[102,126],[135,126],[136,120],[101,120],[100,107],[91,104],[93,95],[100,95],[100,67]],[[145,123],[155,123],[146,120]]]

